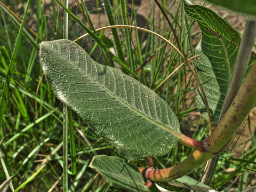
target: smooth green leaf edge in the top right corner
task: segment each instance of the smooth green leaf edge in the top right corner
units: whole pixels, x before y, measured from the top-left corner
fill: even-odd
[[[256,3],[254,0],[206,0],[215,5],[223,6],[227,9],[256,15]]]

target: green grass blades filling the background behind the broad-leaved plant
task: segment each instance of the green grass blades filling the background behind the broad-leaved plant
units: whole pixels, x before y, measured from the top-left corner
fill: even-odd
[[[69,11],[66,10],[69,19],[65,26],[65,6],[60,0],[49,1],[47,5],[41,0],[2,2],[23,18],[26,25],[0,4],[3,15],[0,17],[0,93],[4,95],[1,96],[0,106],[0,185],[13,176],[9,191],[19,187],[23,187],[21,190],[24,191],[122,191],[110,187],[99,174],[88,167],[94,155],[122,156],[122,151],[109,146],[95,135],[83,119],[71,113],[55,98],[38,61],[38,45],[41,41],[63,38],[63,29],[68,29],[68,34],[64,37],[71,40],[89,33],[91,37],[87,36],[77,43],[91,53],[95,60],[123,69],[124,73],[134,76],[154,90],[183,62],[179,54],[154,35],[135,29],[112,29],[110,36],[107,35],[110,30],[94,33],[93,29],[97,27],[94,26],[95,20],[91,15],[99,15],[101,18],[106,14],[111,25],[144,25],[177,45],[163,14],[158,13],[159,9],[154,1],[149,1],[153,4],[150,6],[151,13],[147,17],[141,17],[143,23],[140,23],[135,4],[128,4],[128,8],[124,2],[113,0],[113,4],[108,4],[109,1],[104,0],[104,8],[101,1],[95,1],[94,7],[86,7],[84,1],[76,0],[79,6],[74,3],[70,5]],[[193,34],[198,32],[193,30],[194,21],[183,12],[181,1],[159,2],[178,36],[182,52],[187,58],[193,57]],[[37,36],[31,33],[28,26]],[[196,65],[195,61],[191,63]],[[140,67],[142,70],[137,71]],[[209,127],[207,121],[191,114],[197,110],[194,97],[191,96],[196,88],[195,78],[186,66],[174,73],[156,92],[179,114],[182,132],[202,140],[207,137]],[[63,114],[63,108],[68,113]],[[249,118],[248,124],[255,126],[250,121]],[[62,137],[63,126],[66,129],[65,135],[69,130],[66,139]],[[250,140],[253,141],[250,149],[242,151],[239,158],[233,158],[229,151],[221,154],[211,185],[213,188],[223,191],[236,188],[237,191],[242,191],[250,187],[256,171],[256,164],[253,163],[256,156],[255,133]],[[68,150],[64,153],[62,147]],[[185,159],[192,151],[178,145],[169,154],[154,157],[155,166],[172,166]],[[137,166],[146,165],[145,159],[132,163]],[[30,181],[42,165],[45,165],[44,169]],[[229,167],[233,167],[234,171],[226,172]],[[204,167],[201,167],[189,176],[200,180],[203,170]],[[67,186],[63,186],[62,178],[66,179]],[[189,191],[171,187],[167,183],[159,185],[173,191]]]

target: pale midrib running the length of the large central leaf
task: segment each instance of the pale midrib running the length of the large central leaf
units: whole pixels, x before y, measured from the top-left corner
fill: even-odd
[[[51,49],[50,47],[47,47],[48,49],[52,50],[53,52],[57,53],[57,55],[59,56],[60,54],[58,52],[56,52],[55,50]],[[69,51],[70,52],[70,51]],[[83,50],[84,52],[84,50]],[[86,52],[84,52],[84,54],[86,54]],[[65,59],[68,63],[70,63],[71,66],[74,66],[74,68],[76,68],[83,76],[85,76],[86,78],[89,78],[92,82],[95,82],[95,84],[97,84],[99,87],[101,87],[101,89],[105,90],[108,94],[110,94],[111,96],[113,96],[115,99],[117,99],[119,102],[121,102],[124,106],[127,106],[127,108],[131,109],[134,113],[139,114],[140,116],[142,116],[143,118],[145,118],[147,121],[155,124],[157,127],[162,128],[163,130],[170,132],[171,134],[173,134],[175,137],[177,137],[177,134],[180,134],[179,132],[173,131],[171,129],[168,129],[167,127],[165,127],[163,124],[160,124],[158,122],[156,122],[154,119],[149,118],[147,116],[145,116],[144,114],[140,113],[140,111],[134,109],[132,106],[129,105],[129,103],[126,103],[124,101],[122,101],[117,95],[115,95],[113,92],[111,92],[110,90],[106,89],[105,87],[101,86],[101,84],[96,81],[95,79],[93,79],[92,77],[90,77],[89,75],[85,74],[84,71],[82,71],[80,68],[76,67],[76,65],[73,65],[73,62],[71,62],[70,60],[68,60],[66,57],[62,57],[61,59]],[[90,59],[90,58],[89,58]],[[87,60],[87,58],[86,58]],[[92,61],[95,62],[95,61]],[[97,63],[98,65],[100,65],[99,63]],[[61,65],[59,63],[59,65]],[[87,65],[87,64],[86,64]],[[62,65],[61,65],[62,66]],[[66,66],[63,66],[66,67]],[[106,66],[108,67],[108,66]],[[97,70],[97,68],[96,68]],[[110,69],[111,70],[111,69]]]

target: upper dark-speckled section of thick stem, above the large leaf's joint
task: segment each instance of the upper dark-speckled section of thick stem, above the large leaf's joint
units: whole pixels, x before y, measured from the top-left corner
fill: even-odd
[[[220,123],[205,141],[205,148],[211,153],[221,150],[237,131],[239,125],[249,114],[256,101],[256,62],[254,62],[243,85],[239,89]]]

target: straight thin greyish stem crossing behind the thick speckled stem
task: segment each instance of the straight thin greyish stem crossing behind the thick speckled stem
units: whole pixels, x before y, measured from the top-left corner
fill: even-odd
[[[256,36],[256,22],[253,20],[250,20],[249,18],[246,22],[241,45],[239,46],[233,78],[231,79],[228,92],[227,92],[225,101],[223,103],[220,119],[222,119],[223,115],[226,113],[228,107],[230,106],[230,103],[233,101],[241,85],[242,79],[245,74],[245,70],[247,68],[248,62],[251,57],[255,36]],[[219,154],[215,155],[210,159],[210,162],[206,167],[205,174],[202,177],[202,180],[201,180],[202,183],[209,185],[209,183],[212,180],[213,173],[217,166],[218,160],[219,160]]]

